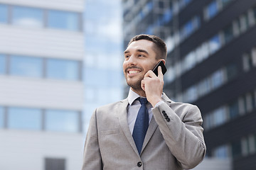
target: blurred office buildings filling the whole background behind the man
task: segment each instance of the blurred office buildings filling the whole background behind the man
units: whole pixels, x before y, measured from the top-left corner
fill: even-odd
[[[206,159],[256,169],[255,0],[0,0],[0,169],[81,169],[98,106],[127,97],[130,38],[167,45],[164,91],[196,104]]]

